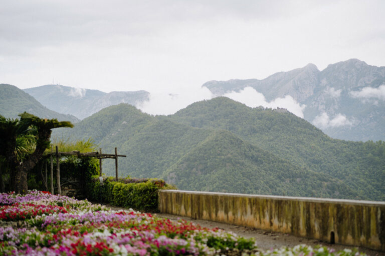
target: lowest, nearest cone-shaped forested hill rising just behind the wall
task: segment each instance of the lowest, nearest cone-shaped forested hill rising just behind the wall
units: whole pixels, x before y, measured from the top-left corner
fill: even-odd
[[[185,190],[343,198],[358,196],[341,180],[295,166],[221,130],[182,156],[167,169],[164,177]]]

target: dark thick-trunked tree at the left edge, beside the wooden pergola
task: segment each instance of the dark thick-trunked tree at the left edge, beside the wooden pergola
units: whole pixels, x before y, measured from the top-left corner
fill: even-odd
[[[16,193],[27,193],[27,175],[50,144],[53,128],[73,127],[69,121],[40,118],[24,112],[20,119],[0,116],[0,155],[11,170],[10,185]]]

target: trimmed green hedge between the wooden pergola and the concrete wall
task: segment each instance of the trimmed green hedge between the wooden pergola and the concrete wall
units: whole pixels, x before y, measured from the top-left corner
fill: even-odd
[[[110,203],[115,206],[136,210],[157,211],[158,189],[175,189],[161,179],[136,179],[103,177],[100,185],[99,176],[94,175],[87,185],[90,200]]]

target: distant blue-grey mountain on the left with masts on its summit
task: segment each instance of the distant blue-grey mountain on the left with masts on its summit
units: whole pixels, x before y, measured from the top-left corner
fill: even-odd
[[[68,113],[83,119],[97,111],[119,103],[138,105],[148,100],[149,92],[112,91],[109,93],[59,84],[42,85],[24,89],[39,102],[58,112]]]

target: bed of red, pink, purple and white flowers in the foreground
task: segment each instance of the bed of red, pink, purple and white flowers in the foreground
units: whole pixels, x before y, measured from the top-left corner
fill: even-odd
[[[14,219],[4,220],[25,219],[28,224],[24,228],[0,227],[2,255],[355,254],[305,245],[260,251],[253,239],[218,228],[205,228],[185,220],[174,222],[134,210],[106,210],[86,200],[39,191],[27,195],[1,194],[0,204],[0,209],[20,212]]]

